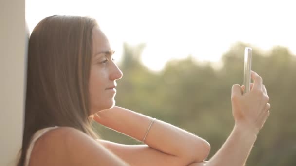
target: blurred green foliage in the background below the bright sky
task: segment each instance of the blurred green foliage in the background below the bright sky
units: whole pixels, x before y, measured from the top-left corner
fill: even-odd
[[[159,73],[140,62],[145,45],[124,45],[118,81],[117,105],[156,117],[195,133],[211,144],[212,156],[226,140],[234,120],[230,94],[233,84],[243,81],[244,43],[223,55],[224,66],[214,70],[191,56],[172,60]],[[248,166],[296,166],[296,57],[284,47],[269,52],[253,48],[252,69],[263,77],[271,103],[271,115],[258,135]],[[138,143],[122,134],[98,127],[103,138]]]

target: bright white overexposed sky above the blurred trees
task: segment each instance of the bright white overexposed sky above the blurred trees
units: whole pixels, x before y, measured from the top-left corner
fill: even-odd
[[[120,60],[123,42],[146,43],[143,63],[160,70],[191,54],[218,62],[237,41],[262,50],[288,47],[296,54],[293,0],[26,0],[30,31],[54,14],[97,19]],[[243,52],[241,53],[243,55]]]

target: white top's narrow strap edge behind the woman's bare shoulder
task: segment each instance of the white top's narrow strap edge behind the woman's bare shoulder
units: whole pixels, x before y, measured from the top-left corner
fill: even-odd
[[[24,166],[28,166],[29,165],[29,161],[30,161],[30,157],[31,157],[31,153],[32,150],[34,148],[35,142],[38,140],[38,138],[40,138],[44,133],[57,128],[57,126],[55,127],[48,127],[48,128],[44,128],[44,129],[40,129],[38,130],[32,137],[29,148],[27,150],[27,155],[26,155],[26,159],[25,159],[25,165]]]

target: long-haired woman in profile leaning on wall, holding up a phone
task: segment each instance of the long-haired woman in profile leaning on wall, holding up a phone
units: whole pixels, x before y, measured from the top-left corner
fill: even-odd
[[[18,166],[242,166],[269,115],[262,78],[250,93],[232,88],[235,127],[208,161],[210,145],[163,121],[115,106],[122,72],[96,21],[51,16],[29,40],[25,129]],[[145,145],[122,145],[92,131],[91,121]],[[240,149],[240,152],[236,150]]]

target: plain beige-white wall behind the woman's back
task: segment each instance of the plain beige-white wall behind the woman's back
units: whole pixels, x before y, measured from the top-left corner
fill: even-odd
[[[23,131],[25,0],[0,0],[0,166],[14,166]]]

